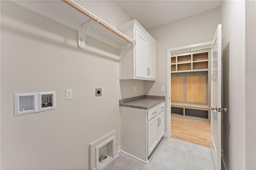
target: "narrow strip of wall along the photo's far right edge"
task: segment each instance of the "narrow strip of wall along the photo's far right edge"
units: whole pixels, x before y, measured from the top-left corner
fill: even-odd
[[[246,169],[256,169],[256,1],[245,2]]]

